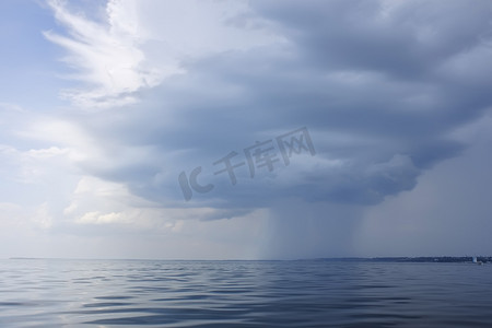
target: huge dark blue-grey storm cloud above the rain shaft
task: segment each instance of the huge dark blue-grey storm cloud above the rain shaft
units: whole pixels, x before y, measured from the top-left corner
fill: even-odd
[[[253,1],[286,42],[183,61],[187,73],[140,103],[78,118],[110,162],[89,173],[183,207],[247,209],[285,198],[374,204],[412,189],[465,144],[450,132],[492,104],[490,1]],[[238,17],[238,20],[244,17]],[[234,22],[230,22],[231,24]],[[492,72],[491,72],[492,73]],[[278,162],[237,184],[212,163],[306,127],[316,155]],[[145,149],[128,157],[121,149]],[[214,185],[185,202],[178,175]]]

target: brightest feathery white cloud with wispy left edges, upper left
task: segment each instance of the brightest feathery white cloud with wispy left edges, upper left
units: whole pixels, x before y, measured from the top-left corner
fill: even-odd
[[[160,72],[147,67],[145,56],[138,47],[142,36],[128,27],[132,17],[116,10],[120,3],[108,7],[109,26],[71,13],[61,1],[49,4],[69,36],[52,32],[45,32],[45,36],[69,51],[65,60],[79,71],[72,78],[92,85],[66,91],[65,95],[74,103],[85,108],[125,105],[134,102],[132,93],[140,87],[159,83]]]

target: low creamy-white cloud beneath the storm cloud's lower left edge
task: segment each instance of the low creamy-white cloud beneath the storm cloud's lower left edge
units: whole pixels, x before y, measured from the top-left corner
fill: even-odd
[[[231,219],[237,211],[214,208],[162,207],[129,192],[122,184],[83,176],[63,209],[65,224],[112,225],[121,231],[179,233],[184,221]]]

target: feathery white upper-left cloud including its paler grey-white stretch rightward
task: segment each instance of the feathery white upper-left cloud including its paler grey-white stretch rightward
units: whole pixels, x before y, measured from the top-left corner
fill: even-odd
[[[78,71],[69,78],[89,85],[62,95],[84,108],[134,103],[140,89],[184,73],[183,60],[284,42],[250,14],[246,1],[112,0],[104,23],[62,1],[49,4],[68,36],[45,36],[68,50],[65,61]]]

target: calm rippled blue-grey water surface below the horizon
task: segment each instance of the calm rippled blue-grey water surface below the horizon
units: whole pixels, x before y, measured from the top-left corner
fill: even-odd
[[[492,327],[492,265],[0,260],[0,327]]]

